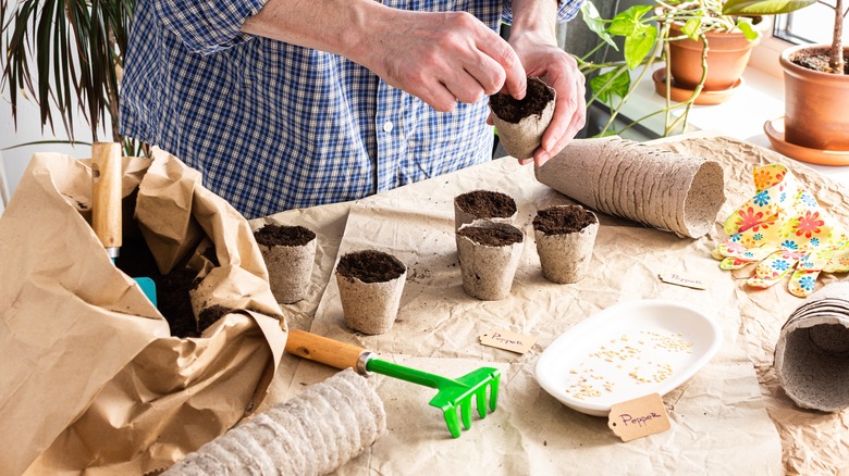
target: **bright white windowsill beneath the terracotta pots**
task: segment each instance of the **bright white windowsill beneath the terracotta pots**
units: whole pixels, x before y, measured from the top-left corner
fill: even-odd
[[[663,67],[663,65],[659,67]],[[633,73],[632,78],[636,80],[638,76],[639,71]],[[659,111],[665,105],[666,99],[655,92],[651,72],[647,72],[619,114],[623,118],[632,120]],[[682,108],[673,110],[673,118],[680,116],[682,110]],[[715,105],[692,107],[688,117],[688,130],[717,131],[728,137],[775,150],[763,131],[763,125],[766,121],[782,117],[783,115],[783,78],[766,74],[750,65],[743,73],[742,84],[726,102]],[[630,123],[630,121],[627,122]],[[663,114],[657,114],[640,122],[642,126],[656,136],[663,136],[664,123]],[[680,127],[676,129],[676,133],[680,133]],[[849,188],[849,166],[803,164]]]

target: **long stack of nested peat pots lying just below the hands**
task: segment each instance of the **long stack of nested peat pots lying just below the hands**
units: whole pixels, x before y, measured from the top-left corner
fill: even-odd
[[[718,162],[619,137],[573,140],[534,174],[590,209],[681,237],[710,231],[725,203]]]

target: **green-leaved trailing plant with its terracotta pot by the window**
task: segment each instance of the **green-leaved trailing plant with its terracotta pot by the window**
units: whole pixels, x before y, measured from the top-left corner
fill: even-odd
[[[760,30],[753,26],[752,20],[723,15],[719,0],[654,0],[653,4],[633,5],[611,20],[601,18],[595,7],[589,1],[581,11],[589,29],[603,40],[589,53],[576,58],[585,75],[601,73],[589,82],[593,95],[588,101],[602,101],[611,109],[611,117],[600,135],[611,134],[611,125],[637,85],[645,74],[652,72],[655,63],[664,61],[666,68],[654,72],[654,80],[657,91],[667,99],[666,107],[637,118],[620,131],[656,114],[665,114],[663,136],[678,130],[686,131],[692,104],[719,102],[716,95],[702,95],[705,86],[709,91],[723,90],[727,89],[727,85],[737,83],[748,62],[751,47],[760,38]],[[722,42],[725,42],[724,38],[712,39],[713,36],[742,39],[743,46],[734,48],[734,54],[740,54],[741,59],[729,60],[729,57],[723,54],[718,55],[718,62],[711,60],[714,50],[723,49]],[[588,58],[605,46],[618,50],[614,41],[617,37],[624,40],[622,61],[588,61]],[[679,52],[676,54],[673,49]],[[686,54],[687,51],[694,54]],[[709,54],[709,51],[712,54]],[[675,60],[681,57],[694,58],[697,62],[684,67],[674,66]],[[735,67],[727,68],[727,64],[734,64]],[[631,80],[630,73],[639,66],[642,67],[637,73],[636,80]],[[719,86],[716,86],[711,78],[715,73],[726,70],[730,71],[731,79],[721,79]],[[679,73],[680,71],[686,74]],[[686,89],[676,87],[675,83],[678,82],[686,83]],[[614,98],[619,98],[619,101],[615,102]],[[674,101],[678,103],[674,104]],[[672,120],[670,113],[675,109],[684,109],[684,112],[676,120]]]

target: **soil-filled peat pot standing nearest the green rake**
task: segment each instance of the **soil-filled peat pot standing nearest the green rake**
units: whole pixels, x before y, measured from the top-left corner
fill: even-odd
[[[336,264],[345,325],[362,334],[383,334],[398,314],[407,266],[390,253],[364,250],[342,255]]]

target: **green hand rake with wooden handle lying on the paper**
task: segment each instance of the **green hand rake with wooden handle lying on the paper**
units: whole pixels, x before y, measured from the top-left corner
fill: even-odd
[[[471,427],[472,398],[481,418],[487,417],[488,406],[491,412],[495,411],[499,400],[501,371],[497,368],[481,367],[459,378],[452,379],[383,361],[373,352],[361,347],[297,329],[288,331],[286,352],[336,368],[353,367],[362,375],[374,372],[435,388],[439,391],[431,399],[430,404],[442,410],[445,424],[454,438],[460,436],[460,421],[464,429]],[[489,402],[487,401],[488,390]],[[457,417],[458,409],[459,418]]]

